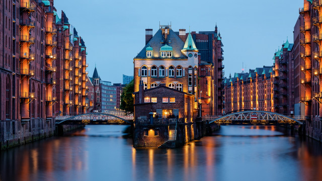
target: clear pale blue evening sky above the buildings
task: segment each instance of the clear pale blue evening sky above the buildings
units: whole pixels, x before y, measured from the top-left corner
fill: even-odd
[[[213,31],[217,23],[224,44],[224,71],[241,72],[272,65],[276,49],[293,29],[303,0],[230,1],[106,1],[55,0],[60,15],[85,40],[89,75],[95,63],[103,80],[122,83],[133,75],[133,58],[145,45],[145,29],[172,23],[172,29]]]

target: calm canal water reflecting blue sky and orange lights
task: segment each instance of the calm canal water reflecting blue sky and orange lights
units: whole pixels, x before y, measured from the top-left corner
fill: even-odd
[[[134,149],[95,125],[1,153],[1,180],[322,180],[322,146],[275,126],[222,126],[177,149]]]

